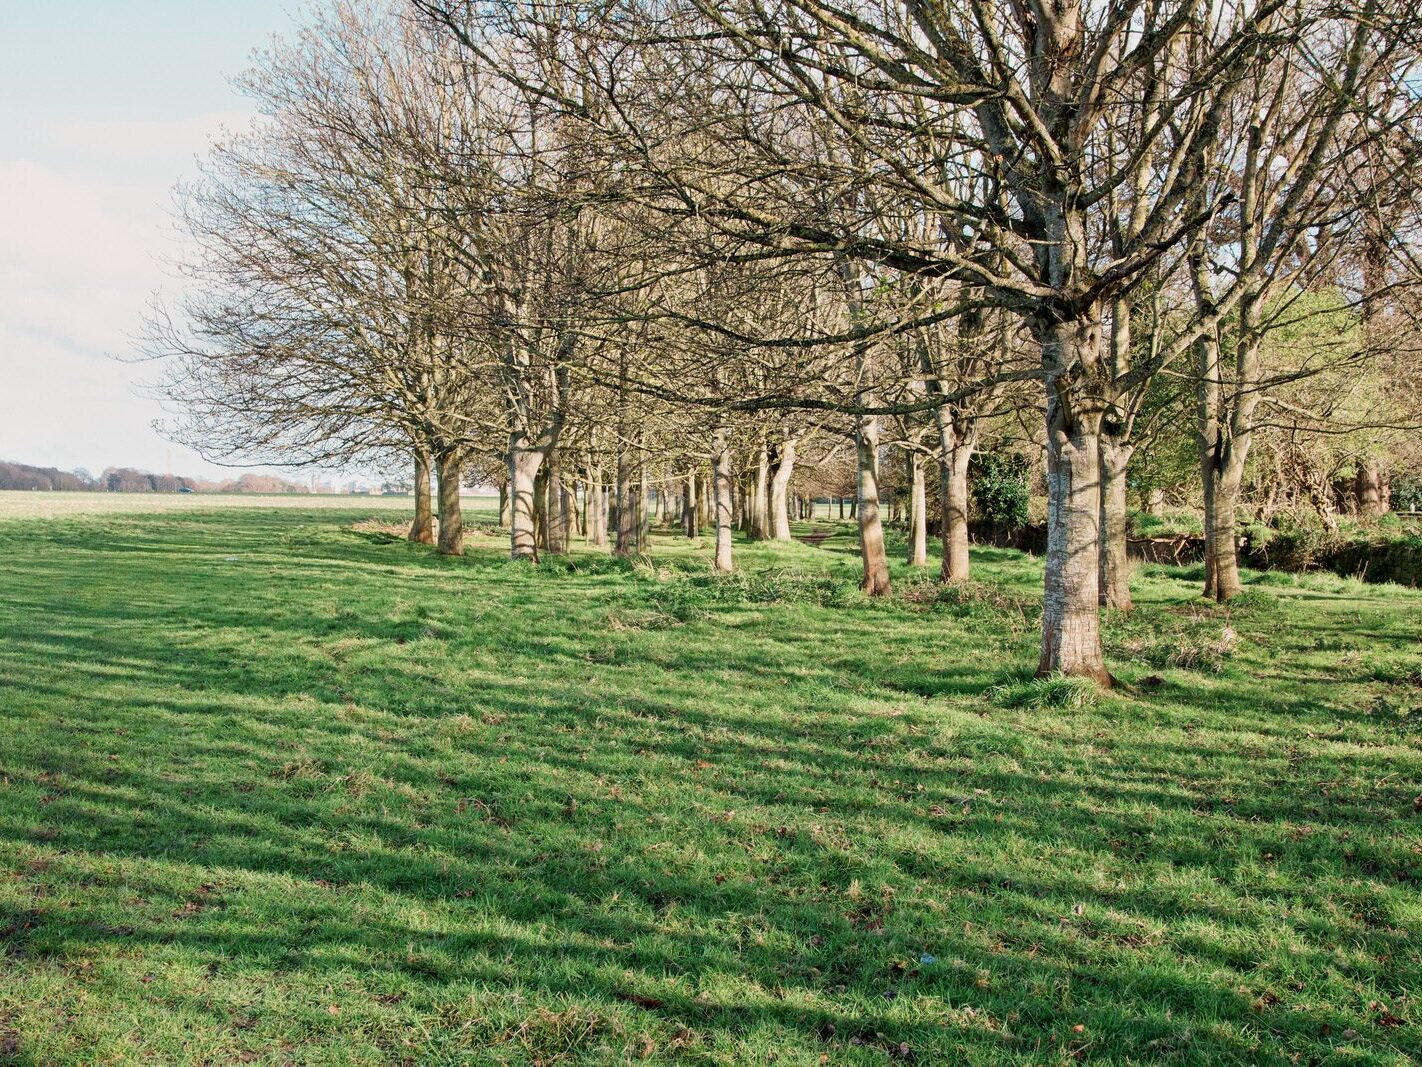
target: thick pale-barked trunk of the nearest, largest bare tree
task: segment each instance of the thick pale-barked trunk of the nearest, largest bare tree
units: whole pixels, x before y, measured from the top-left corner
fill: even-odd
[[[1062,371],[1101,367],[1099,320],[1035,324],[1047,381],[1047,573],[1038,676],[1109,686],[1101,650],[1101,396]]]

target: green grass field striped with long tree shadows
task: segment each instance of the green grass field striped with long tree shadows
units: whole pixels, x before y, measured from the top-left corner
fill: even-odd
[[[1148,569],[1098,699],[1017,553],[867,603],[848,528],[717,580],[383,504],[0,522],[0,1061],[1422,1049],[1422,595]]]

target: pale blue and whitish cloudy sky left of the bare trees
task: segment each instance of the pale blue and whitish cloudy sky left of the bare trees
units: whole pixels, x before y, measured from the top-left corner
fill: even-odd
[[[250,105],[229,78],[289,0],[0,0],[0,460],[223,475],[154,421],[134,363],[173,292],[172,186]]]

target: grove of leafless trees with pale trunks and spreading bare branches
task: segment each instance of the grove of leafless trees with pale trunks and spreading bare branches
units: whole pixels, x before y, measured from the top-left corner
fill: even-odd
[[[1411,336],[1418,31],[1402,0],[341,0],[183,191],[151,349],[209,454],[414,455],[445,552],[472,478],[516,559],[641,551],[675,501],[729,570],[738,519],[786,539],[852,461],[870,595],[884,457],[910,558],[936,495],[963,580],[971,457],[1035,408],[1039,670],[1106,683],[1162,394],[1196,400],[1229,599],[1261,413]]]

